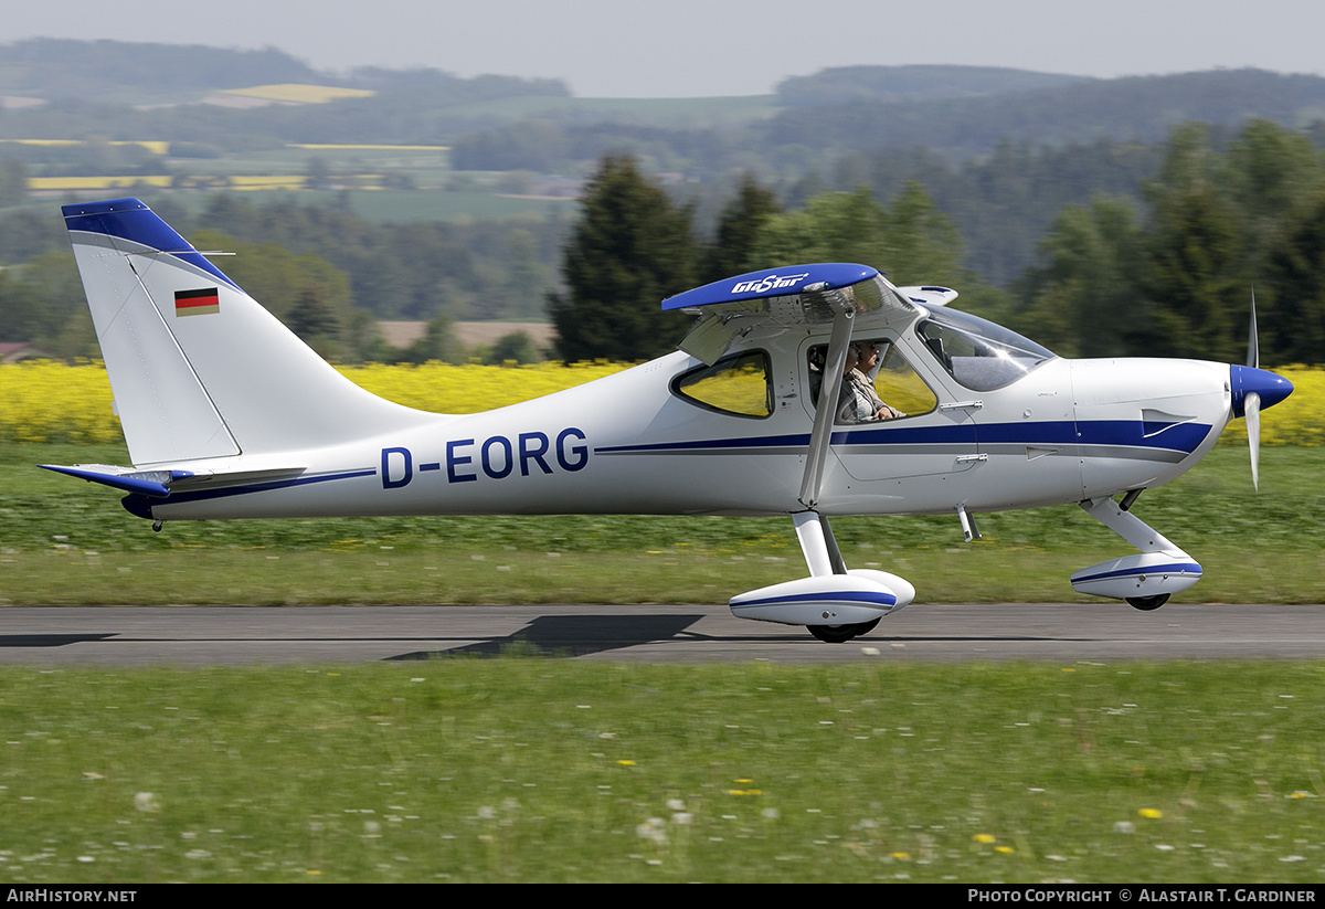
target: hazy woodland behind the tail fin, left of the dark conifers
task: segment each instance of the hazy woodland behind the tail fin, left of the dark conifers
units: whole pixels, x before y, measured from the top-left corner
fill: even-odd
[[[555,219],[376,224],[346,205],[257,205],[232,193],[212,196],[197,212],[168,193],[144,199],[196,248],[235,253],[220,260],[225,273],[319,352],[342,362],[464,359],[466,351],[448,331],[453,321],[545,318],[543,297],[556,284],[566,231]],[[378,319],[431,326],[415,350],[401,354],[378,337]],[[0,217],[5,341],[34,342],[62,358],[97,355],[54,204]],[[531,355],[519,352],[521,359]]]

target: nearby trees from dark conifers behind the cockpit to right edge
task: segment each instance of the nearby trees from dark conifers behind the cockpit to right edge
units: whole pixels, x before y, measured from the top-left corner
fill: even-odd
[[[1067,356],[1242,362],[1255,294],[1264,363],[1325,362],[1325,155],[1302,133],[1268,121],[1232,136],[1175,130],[1140,197],[1063,207],[1007,289],[963,265],[954,220],[922,184],[878,195],[861,184],[783,209],[747,175],[702,239],[692,205],[632,158],[604,158],[563,250],[566,289],[549,301],[560,356],[655,356],[685,327],[660,311],[666,295],[759,268],[859,261],[896,284],[953,286],[962,309]]]

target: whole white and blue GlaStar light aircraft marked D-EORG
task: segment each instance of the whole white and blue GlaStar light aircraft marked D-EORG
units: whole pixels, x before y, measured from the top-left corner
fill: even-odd
[[[1080,504],[1134,554],[1073,588],[1162,606],[1200,566],[1132,514],[1292,384],[1248,366],[1065,360],[864,265],[755,272],[662,301],[680,350],[484,413],[343,378],[136,199],[64,208],[132,466],[50,466],[164,521],[407,514],[788,515],[808,576],[733,614],[867,633],[916,595],[848,568],[829,518]],[[1121,497],[1116,501],[1114,497]]]

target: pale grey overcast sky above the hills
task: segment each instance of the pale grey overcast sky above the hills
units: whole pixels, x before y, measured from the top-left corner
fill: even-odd
[[[274,46],[318,69],[563,78],[580,97],[763,94],[857,64],[1325,76],[1325,0],[4,0],[0,44]]]

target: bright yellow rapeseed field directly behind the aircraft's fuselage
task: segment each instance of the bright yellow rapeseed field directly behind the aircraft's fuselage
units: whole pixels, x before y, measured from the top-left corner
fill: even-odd
[[[376,395],[439,413],[474,413],[515,404],[624,368],[628,364],[339,367]],[[1325,445],[1325,368],[1291,366],[1276,372],[1292,382],[1296,391],[1264,412],[1261,444]],[[117,443],[121,439],[119,421],[111,412],[110,383],[101,363],[29,360],[0,366],[0,441]],[[1246,444],[1246,424],[1234,420],[1220,443]]]

